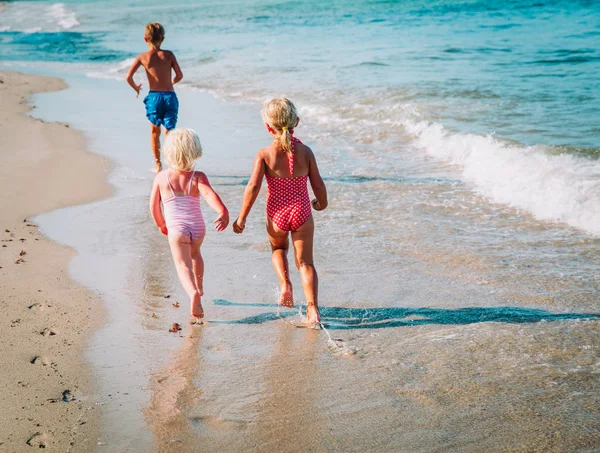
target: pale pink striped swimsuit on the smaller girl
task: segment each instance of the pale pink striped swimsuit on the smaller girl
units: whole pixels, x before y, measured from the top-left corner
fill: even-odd
[[[189,236],[190,240],[197,241],[202,239],[206,227],[202,210],[200,209],[200,197],[194,197],[192,193],[192,182],[194,181],[194,172],[191,172],[190,184],[188,186],[187,195],[177,196],[169,180],[169,171],[165,172],[167,183],[171,189],[173,196],[168,200],[163,201],[163,210],[165,212],[165,220],[167,222],[167,230],[177,231],[181,234]],[[185,192],[184,192],[185,193]]]

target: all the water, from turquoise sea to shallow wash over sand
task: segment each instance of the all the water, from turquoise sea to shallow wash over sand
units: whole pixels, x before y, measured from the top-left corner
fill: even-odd
[[[114,161],[113,198],[38,219],[76,248],[71,274],[109,311],[89,351],[100,442],[600,449],[595,2],[61,5],[4,5],[0,66],[65,77],[71,88],[36,96],[34,115],[86,131]],[[32,14],[47,18],[39,31]],[[209,228],[208,322],[185,325],[147,212],[143,106],[112,80],[157,15],[186,74],[179,126],[198,131],[198,167],[233,219],[269,139],[262,100],[299,104],[297,135],[330,196],[315,213],[326,331],[274,305],[264,196],[242,236]]]

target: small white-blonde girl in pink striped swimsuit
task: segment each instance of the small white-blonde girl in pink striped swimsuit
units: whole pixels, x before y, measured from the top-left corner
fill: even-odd
[[[202,156],[200,139],[191,129],[174,129],[164,145],[169,166],[154,178],[150,193],[150,212],[161,233],[168,236],[173,261],[183,289],[190,298],[192,320],[204,317],[201,296],[204,294],[204,260],[200,246],[206,231],[200,209],[200,196],[219,216],[215,229],[223,231],[229,212],[213,190],[206,175],[194,171],[194,161]],[[161,201],[163,211],[161,211]]]

